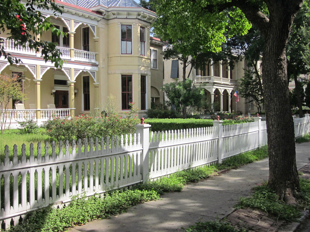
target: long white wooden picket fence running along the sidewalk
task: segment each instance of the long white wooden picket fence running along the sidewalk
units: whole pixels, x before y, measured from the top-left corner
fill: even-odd
[[[310,117],[305,116],[294,118],[295,137],[310,132]],[[11,160],[6,146],[0,164],[0,221],[6,227],[17,225],[31,211],[65,206],[72,195],[127,188],[263,146],[267,144],[266,121],[254,119],[234,125],[213,121],[213,127],[155,133],[149,132],[151,125],[138,124],[134,135],[83,144],[79,140],[77,145],[73,141],[72,148],[69,141],[64,145],[60,141],[58,148],[55,142],[44,147],[38,143],[36,149],[30,144],[28,151],[25,144],[21,151],[15,145]]]

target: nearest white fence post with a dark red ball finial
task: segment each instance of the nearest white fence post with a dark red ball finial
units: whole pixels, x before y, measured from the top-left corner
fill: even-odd
[[[149,178],[149,171],[148,171],[148,153],[149,153],[149,134],[150,134],[150,127],[149,124],[144,124],[144,118],[141,118],[141,124],[135,125],[137,128],[137,136],[140,134],[140,144],[142,145],[142,156],[140,159],[140,171],[143,183],[145,183]]]

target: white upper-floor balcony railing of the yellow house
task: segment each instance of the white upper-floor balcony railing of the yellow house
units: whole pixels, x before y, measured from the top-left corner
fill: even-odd
[[[36,55],[35,49],[29,48],[29,43],[26,43],[26,48],[20,46],[20,45],[14,45],[13,39],[6,39],[2,38],[4,41],[2,43],[2,46],[4,47],[5,51],[10,53],[19,53],[19,54],[26,54],[26,55]],[[71,48],[64,48],[64,47],[57,47],[60,49],[62,56],[62,59],[71,59],[70,57],[70,50]],[[78,61],[84,61],[84,62],[91,62],[91,63],[97,63],[95,55],[97,53],[95,52],[88,52],[88,51],[82,51],[78,49],[74,50],[74,60]]]

